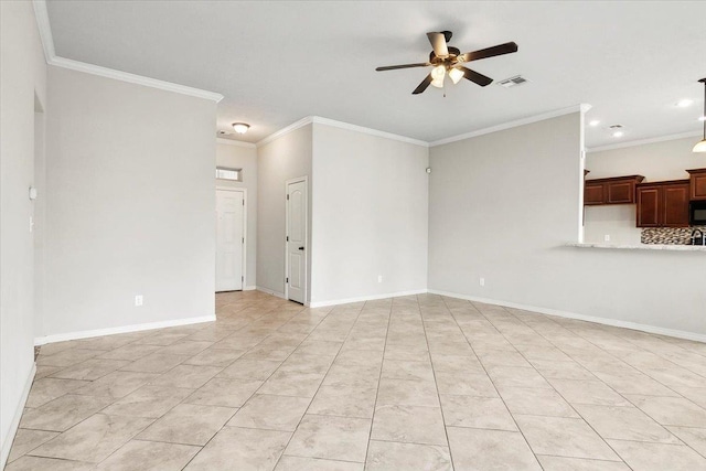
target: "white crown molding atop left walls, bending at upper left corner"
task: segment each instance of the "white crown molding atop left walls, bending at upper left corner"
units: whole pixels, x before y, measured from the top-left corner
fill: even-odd
[[[34,7],[34,17],[36,18],[36,26],[42,40],[44,49],[44,58],[50,65],[56,67],[71,68],[72,71],[83,72],[86,74],[99,75],[101,77],[114,78],[116,81],[128,82],[147,87],[159,88],[167,92],[173,92],[182,95],[194,96],[196,98],[210,99],[218,103],[223,99],[223,95],[192,88],[185,85],[173,84],[171,82],[158,81],[157,78],[145,77],[142,75],[130,74],[114,68],[101,67],[99,65],[87,64],[85,62],[74,61],[71,58],[60,57],[54,49],[54,36],[52,35],[52,26],[49,21],[49,11],[46,9],[46,0],[32,0]]]

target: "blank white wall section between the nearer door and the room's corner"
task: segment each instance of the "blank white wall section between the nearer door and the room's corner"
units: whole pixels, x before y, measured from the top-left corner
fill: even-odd
[[[427,147],[313,125],[312,306],[426,290],[428,164]]]

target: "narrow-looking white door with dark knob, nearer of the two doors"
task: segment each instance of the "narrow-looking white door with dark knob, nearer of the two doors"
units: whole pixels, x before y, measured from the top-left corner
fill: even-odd
[[[307,297],[307,182],[287,183],[287,298]]]

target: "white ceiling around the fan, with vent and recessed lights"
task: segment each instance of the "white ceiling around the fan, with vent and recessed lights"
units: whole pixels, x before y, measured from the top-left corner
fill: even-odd
[[[56,54],[217,92],[218,129],[252,125],[256,142],[310,115],[435,141],[588,103],[587,144],[698,131],[706,77],[706,2],[49,1]],[[496,81],[411,90],[428,31],[461,52],[515,41],[475,62]],[[675,103],[691,98],[689,108]]]

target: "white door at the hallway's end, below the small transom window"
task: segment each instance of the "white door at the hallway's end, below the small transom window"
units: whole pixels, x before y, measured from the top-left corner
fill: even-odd
[[[216,190],[216,291],[243,289],[244,216],[242,191]]]

